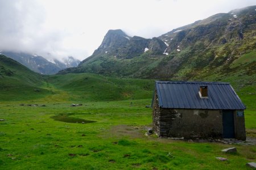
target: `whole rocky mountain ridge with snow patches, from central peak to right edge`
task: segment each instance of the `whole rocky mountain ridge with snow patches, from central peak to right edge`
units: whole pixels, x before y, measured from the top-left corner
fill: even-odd
[[[255,75],[255,9],[250,6],[216,14],[152,39],[110,30],[92,56],[59,74],[177,80]]]

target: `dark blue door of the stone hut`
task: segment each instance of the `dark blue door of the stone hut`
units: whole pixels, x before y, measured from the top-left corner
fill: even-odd
[[[222,111],[223,138],[234,138],[234,113]]]

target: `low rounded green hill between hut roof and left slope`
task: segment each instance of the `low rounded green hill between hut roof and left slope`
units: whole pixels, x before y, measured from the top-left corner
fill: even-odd
[[[49,76],[52,87],[68,94],[68,100],[113,101],[152,97],[154,80],[113,78],[96,74]]]

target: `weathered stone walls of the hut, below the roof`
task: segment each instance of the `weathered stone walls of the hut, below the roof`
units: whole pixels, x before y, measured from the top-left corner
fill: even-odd
[[[222,138],[222,110],[159,108],[156,92],[152,108],[153,130],[159,137]],[[245,140],[245,120],[236,111],[234,132],[237,139]]]

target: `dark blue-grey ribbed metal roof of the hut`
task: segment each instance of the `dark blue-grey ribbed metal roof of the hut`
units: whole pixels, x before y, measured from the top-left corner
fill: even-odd
[[[200,97],[200,86],[208,87],[208,99]],[[229,83],[156,81],[155,88],[161,108],[245,109]]]

